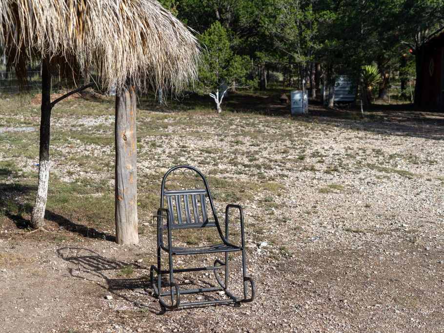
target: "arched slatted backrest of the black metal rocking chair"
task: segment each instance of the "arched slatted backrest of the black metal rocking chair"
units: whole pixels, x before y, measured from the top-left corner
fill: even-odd
[[[172,229],[219,227],[208,183],[189,165],[175,166],[163,176],[161,208],[168,208]]]

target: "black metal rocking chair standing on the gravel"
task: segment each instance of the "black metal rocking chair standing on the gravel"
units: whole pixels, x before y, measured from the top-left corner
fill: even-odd
[[[176,171],[177,170],[177,171]],[[178,179],[174,179],[176,184],[179,183],[179,189],[166,189],[165,184],[169,182],[168,175],[172,172],[179,173]],[[171,175],[172,176],[172,175]],[[183,181],[181,181],[183,180]],[[186,188],[183,182],[191,180],[194,182],[193,188]],[[203,186],[199,188],[196,182],[203,181]],[[185,187],[185,188],[184,188]],[[166,206],[165,206],[166,201]],[[211,208],[209,214],[207,211],[207,203]],[[239,210],[241,218],[241,245],[234,245],[228,241],[228,211],[230,208],[237,208]],[[213,219],[211,219],[213,217]],[[182,306],[201,306],[207,304],[221,304],[221,303],[241,303],[251,302],[256,294],[254,281],[251,277],[246,275],[245,267],[245,238],[243,228],[243,212],[239,205],[229,204],[225,208],[225,235],[222,234],[221,226],[216,215],[213,200],[210,195],[208,183],[202,173],[194,167],[188,165],[179,165],[168,170],[163,176],[161,184],[161,206],[157,211],[157,215],[154,215],[154,223],[157,221],[157,267],[151,266],[150,278],[151,284],[154,289],[156,297],[159,299],[161,306],[167,309],[176,309]],[[156,227],[156,226],[155,226]],[[174,247],[172,239],[172,230],[175,229],[189,229],[189,228],[203,228],[203,227],[216,227],[217,232],[222,240],[222,243],[216,245],[207,245],[199,247]],[[167,246],[163,242],[163,231],[167,231]],[[191,230],[190,230],[191,231]],[[228,290],[228,260],[229,253],[242,252],[242,275],[243,275],[243,298],[233,295]],[[169,269],[161,269],[161,253],[168,253],[168,266]],[[200,254],[216,254],[224,253],[225,261],[216,258],[213,266],[211,267],[198,267],[198,268],[173,268],[173,255],[200,255]],[[224,281],[221,281],[221,277],[218,271],[225,267]],[[179,285],[174,281],[173,274],[184,272],[198,272],[198,271],[213,271],[216,281],[219,286],[216,287],[203,287],[196,289],[181,289]],[[157,273],[157,281],[155,281],[154,272]],[[161,275],[169,274],[169,291],[161,292]],[[248,296],[247,282],[250,283],[251,294]],[[193,293],[205,293],[205,292],[220,292],[223,291],[229,298],[224,299],[211,299],[195,302],[182,302],[182,294]],[[171,305],[167,304],[163,297],[171,297]],[[202,298],[202,297],[198,297]],[[219,297],[220,298],[220,297]]]

